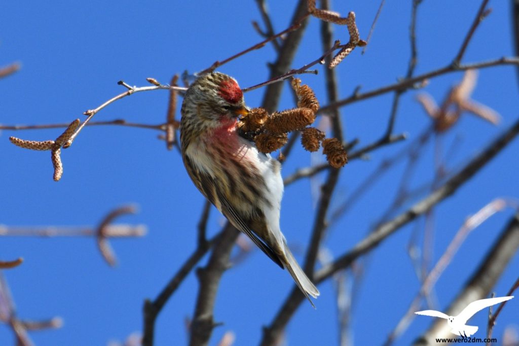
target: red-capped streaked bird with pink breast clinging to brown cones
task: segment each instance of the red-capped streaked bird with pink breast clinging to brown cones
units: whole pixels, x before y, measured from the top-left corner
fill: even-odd
[[[181,109],[184,166],[198,190],[272,261],[287,269],[314,306],[310,296],[317,298],[319,290],[299,267],[279,227],[281,164],[239,135],[238,117],[248,112],[236,79],[219,72],[197,78]]]

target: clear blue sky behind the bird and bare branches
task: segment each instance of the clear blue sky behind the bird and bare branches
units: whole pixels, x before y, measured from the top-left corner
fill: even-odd
[[[294,2],[270,1],[277,31],[288,25]],[[366,38],[378,1],[339,2],[333,8],[346,15],[353,10],[362,38]],[[418,14],[417,73],[446,65],[455,56],[474,18],[479,1],[425,1]],[[512,37],[508,1],[491,1],[492,14],[477,29],[465,62],[511,56]],[[387,2],[364,55],[355,50],[337,68],[341,97],[351,95],[357,85],[370,90],[393,83],[405,74],[409,57],[408,25],[411,1]],[[0,65],[20,61],[22,69],[0,81],[0,123],[50,124],[83,118],[85,110],[97,107],[123,91],[116,84],[146,85],[146,77],[168,83],[172,74],[200,71],[259,42],[251,21],[261,22],[255,3],[225,2],[6,2],[0,20]],[[321,54],[319,21],[311,19],[293,67],[298,68]],[[335,27],[334,37],[348,40],[345,28]],[[266,80],[267,62],[275,59],[271,46],[223,66],[220,71],[236,77],[241,86]],[[305,75],[303,80],[325,102],[324,74]],[[448,88],[461,78],[454,73],[434,78],[425,89],[442,100]],[[280,109],[291,108],[284,90]],[[492,138],[517,118],[517,76],[511,66],[480,72],[473,98],[496,110],[502,117],[494,127],[473,116],[463,116],[459,125],[443,138],[444,149],[456,142],[447,166],[466,163]],[[263,89],[249,92],[251,107],[261,103]],[[429,119],[414,101],[415,91],[402,97],[396,132],[415,138]],[[361,143],[377,139],[384,131],[392,95],[354,103],[341,109],[346,138]],[[125,118],[127,121],[159,124],[165,119],[167,91],[133,95],[116,102],[95,118],[98,121]],[[180,116],[180,115],[179,115]],[[146,224],[148,234],[139,239],[115,239],[112,244],[119,265],[109,268],[89,238],[2,238],[0,259],[24,257],[17,269],[5,271],[21,318],[61,316],[59,330],[33,332],[37,345],[104,345],[142,329],[142,305],[154,298],[190,254],[196,244],[196,225],[203,197],[190,182],[180,155],[167,151],[158,133],[121,127],[90,127],[73,146],[63,151],[64,175],[52,181],[49,154],[14,147],[9,136],[46,140],[59,130],[0,132],[0,224],[6,225],[94,225],[112,208],[136,203],[137,216],[120,222]],[[354,161],[340,175],[332,210],[378,166],[406,145],[373,152],[370,161]],[[421,158],[413,185],[432,178],[433,149]],[[467,216],[495,197],[519,196],[517,152],[512,143],[493,162],[442,203],[433,213],[434,259],[443,253]],[[319,155],[313,160],[321,159]],[[311,164],[311,156],[298,148],[283,167],[283,175]],[[398,166],[363,196],[349,214],[327,235],[325,246],[333,255],[352,247],[386,210],[402,174]],[[286,188],[281,228],[297,256],[302,259],[315,215],[311,183],[299,181]],[[485,222],[463,244],[436,285],[439,310],[445,308],[486,250],[513,215],[507,210]],[[223,223],[211,210],[208,233]],[[419,222],[423,227],[424,222]],[[395,326],[416,294],[419,283],[406,244],[416,225],[391,236],[366,262],[365,275],[353,311],[352,337],[356,344],[380,344]],[[201,263],[204,263],[207,259]],[[469,270],[467,270],[467,268]],[[502,296],[517,278],[515,256],[495,287]],[[225,273],[215,307],[215,320],[224,326],[214,331],[215,344],[225,331],[234,331],[237,345],[257,344],[262,326],[268,324],[292,289],[290,276],[279,270],[259,251]],[[317,310],[304,303],[286,330],[291,345],[336,344],[337,324],[334,291],[327,282],[320,287]],[[159,316],[156,344],[185,344],[184,319],[193,314],[198,283],[190,275]],[[519,322],[519,302],[504,309],[494,336]],[[474,318],[483,329],[486,313]],[[431,323],[420,316],[397,344],[408,344]],[[479,334],[483,337],[483,334]],[[9,329],[0,325],[0,344],[12,344]]]

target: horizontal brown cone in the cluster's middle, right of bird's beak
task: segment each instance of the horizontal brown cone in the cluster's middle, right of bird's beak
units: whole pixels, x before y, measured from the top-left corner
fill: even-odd
[[[301,130],[316,120],[315,113],[309,108],[295,108],[275,112],[267,119],[265,129],[272,134]]]

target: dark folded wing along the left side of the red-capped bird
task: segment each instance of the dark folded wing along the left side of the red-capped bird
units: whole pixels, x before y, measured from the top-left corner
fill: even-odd
[[[279,260],[278,256],[275,252],[267,246],[264,242],[261,241],[260,238],[249,228],[247,223],[240,217],[236,209],[231,205],[228,199],[224,196],[221,189],[218,189],[220,186],[214,179],[208,174],[201,172],[196,169],[188,156],[184,156],[184,164],[186,166],[187,173],[189,177],[193,180],[196,187],[207,199],[222,212],[222,214],[241,232],[245,233],[249,238],[251,238],[252,242],[256,244],[265,254],[279,267],[284,268],[283,264]]]

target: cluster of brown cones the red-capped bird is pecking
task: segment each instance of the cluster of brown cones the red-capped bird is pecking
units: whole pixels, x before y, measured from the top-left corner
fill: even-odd
[[[319,101],[308,85],[301,79],[292,79],[292,88],[297,95],[297,108],[269,114],[263,108],[253,108],[238,123],[241,135],[256,143],[263,153],[276,151],[288,141],[288,132],[302,130],[301,143],[310,152],[318,151],[322,144],[323,154],[330,166],[343,167],[348,163],[346,151],[336,138],[324,139],[324,132],[308,127],[316,120]]]

